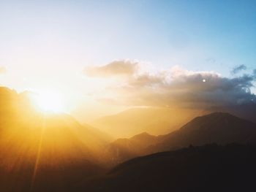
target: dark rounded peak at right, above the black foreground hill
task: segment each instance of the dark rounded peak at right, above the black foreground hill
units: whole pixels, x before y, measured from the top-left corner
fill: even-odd
[[[161,143],[148,153],[208,143],[256,142],[256,125],[225,112],[214,112],[191,120],[177,131],[159,137]]]

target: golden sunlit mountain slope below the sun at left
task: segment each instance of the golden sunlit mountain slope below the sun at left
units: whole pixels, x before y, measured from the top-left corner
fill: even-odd
[[[28,94],[0,88],[0,191],[72,191],[105,172],[108,139],[69,115],[38,112]]]

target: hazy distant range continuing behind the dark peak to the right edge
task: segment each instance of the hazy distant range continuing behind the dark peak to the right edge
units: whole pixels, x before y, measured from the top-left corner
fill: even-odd
[[[218,111],[230,113],[256,123],[256,104],[243,104],[211,107],[206,110],[170,107],[132,108],[115,115],[99,118],[90,124],[116,139],[133,137],[143,132],[159,135],[175,131],[193,118]]]

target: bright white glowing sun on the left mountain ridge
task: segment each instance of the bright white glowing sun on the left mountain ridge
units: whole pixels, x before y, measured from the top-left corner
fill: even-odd
[[[39,91],[34,97],[36,107],[43,112],[64,112],[64,99],[57,91]]]

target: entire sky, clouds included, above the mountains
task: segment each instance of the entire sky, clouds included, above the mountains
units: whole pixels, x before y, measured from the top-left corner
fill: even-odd
[[[233,85],[226,89],[236,103],[253,101],[255,9],[256,1],[0,0],[0,85],[58,91],[67,111],[88,119],[127,106],[171,105],[180,98],[173,89],[198,77],[215,78],[218,90]],[[182,93],[192,99],[182,104],[199,97],[191,87]],[[222,104],[226,93],[210,97]],[[201,94],[203,105],[209,94]]]

